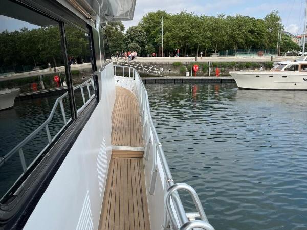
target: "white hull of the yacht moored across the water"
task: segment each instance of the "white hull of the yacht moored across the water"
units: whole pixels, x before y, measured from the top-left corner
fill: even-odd
[[[300,72],[264,72],[233,71],[231,76],[238,88],[264,90],[307,90],[307,73]]]

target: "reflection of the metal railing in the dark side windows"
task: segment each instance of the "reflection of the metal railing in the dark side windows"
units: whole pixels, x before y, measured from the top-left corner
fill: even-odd
[[[89,94],[89,99],[87,101],[85,101],[85,97],[84,97],[84,91],[83,91],[83,87],[87,88],[87,93]],[[94,80],[93,78],[83,82],[82,84],[74,87],[74,91],[76,89],[81,90],[81,94],[82,94],[82,99],[83,99],[83,105],[81,108],[78,109],[77,114],[79,114],[87,104],[90,103],[90,101],[95,97],[95,94],[91,95],[91,90],[90,90],[90,86],[92,86],[94,88]],[[35,162],[35,160],[37,159],[38,156],[40,156],[40,154],[55,140],[55,138],[58,136],[58,134],[64,129],[64,127],[71,121],[71,118],[67,120],[66,116],[65,116],[65,110],[64,110],[64,105],[63,105],[63,98],[65,98],[66,96],[68,96],[68,92],[64,93],[63,95],[61,95],[60,97],[58,97],[53,105],[53,108],[49,114],[49,117],[47,118],[47,120],[45,122],[43,122],[37,129],[35,129],[30,135],[28,135],[23,141],[21,141],[18,145],[16,145],[9,153],[7,153],[6,155],[0,157],[0,167],[2,167],[14,154],[16,154],[18,152],[19,154],[19,158],[20,158],[20,162],[21,162],[21,166],[23,167],[23,171],[24,173],[27,172],[27,170],[29,169],[29,167],[33,164],[33,162]],[[63,122],[64,125],[62,126],[62,128],[55,134],[54,137],[51,136],[50,130],[49,130],[49,126],[48,124],[51,122],[54,113],[58,107],[58,105],[60,105],[60,109],[61,109],[61,113],[62,113],[62,117],[63,117]],[[41,150],[41,152],[38,154],[38,156],[36,157],[35,160],[33,160],[33,162],[27,166],[26,164],[26,160],[25,160],[25,155],[23,152],[23,147],[37,134],[39,133],[42,129],[46,129],[46,133],[47,133],[47,137],[48,137],[48,144],[47,146],[45,146],[45,148],[43,148]]]

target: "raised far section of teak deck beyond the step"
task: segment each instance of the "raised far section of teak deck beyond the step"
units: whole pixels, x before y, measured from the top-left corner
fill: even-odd
[[[112,145],[144,147],[137,98],[125,88],[116,87],[112,124]]]

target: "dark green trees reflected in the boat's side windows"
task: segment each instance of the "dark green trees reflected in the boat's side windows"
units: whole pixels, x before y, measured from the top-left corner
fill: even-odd
[[[74,27],[65,27],[68,55],[90,61],[89,37]],[[64,64],[58,26],[0,33],[1,72],[32,70],[33,67]]]

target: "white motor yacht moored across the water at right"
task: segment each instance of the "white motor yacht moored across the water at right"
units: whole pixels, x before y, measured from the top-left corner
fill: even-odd
[[[307,61],[278,62],[270,71],[231,71],[238,88],[307,90]]]

